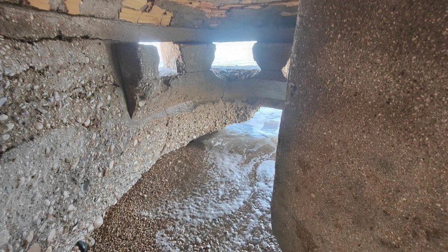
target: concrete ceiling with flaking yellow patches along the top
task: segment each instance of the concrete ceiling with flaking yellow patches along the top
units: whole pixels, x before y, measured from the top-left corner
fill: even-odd
[[[6,0],[70,15],[192,29],[295,27],[298,0]]]

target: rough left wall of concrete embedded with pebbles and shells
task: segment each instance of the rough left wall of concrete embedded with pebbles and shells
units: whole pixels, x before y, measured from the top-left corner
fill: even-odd
[[[0,249],[70,250],[160,156],[256,109],[151,78],[131,120],[109,48],[0,37]]]

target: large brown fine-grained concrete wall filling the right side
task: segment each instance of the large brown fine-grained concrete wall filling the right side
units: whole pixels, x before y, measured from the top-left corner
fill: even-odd
[[[272,199],[283,251],[448,250],[446,10],[301,1]]]

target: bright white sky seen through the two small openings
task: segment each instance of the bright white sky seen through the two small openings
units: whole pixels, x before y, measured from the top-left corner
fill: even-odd
[[[216,45],[213,66],[257,66],[253,59],[252,46],[256,41],[243,42],[214,42]],[[163,67],[160,42],[140,42],[140,44],[153,45],[159,53],[159,68]]]

